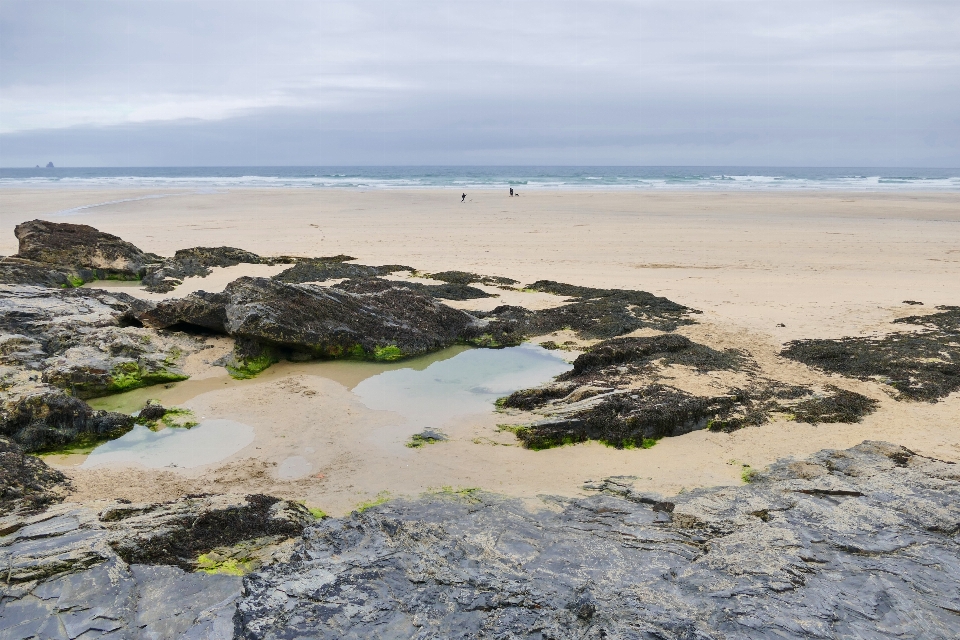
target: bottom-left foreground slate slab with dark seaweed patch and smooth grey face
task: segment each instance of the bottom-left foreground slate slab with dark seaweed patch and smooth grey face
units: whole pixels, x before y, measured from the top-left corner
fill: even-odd
[[[230,544],[277,562],[313,521],[267,496],[99,506],[0,518],[0,638],[231,638],[240,572],[208,573],[197,554]]]

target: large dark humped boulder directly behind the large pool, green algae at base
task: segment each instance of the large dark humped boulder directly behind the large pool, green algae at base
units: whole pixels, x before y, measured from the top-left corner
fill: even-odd
[[[296,358],[412,356],[453,344],[477,324],[401,286],[358,294],[270,278],[240,278],[222,293],[164,301],[138,318],[148,327],[223,332]]]

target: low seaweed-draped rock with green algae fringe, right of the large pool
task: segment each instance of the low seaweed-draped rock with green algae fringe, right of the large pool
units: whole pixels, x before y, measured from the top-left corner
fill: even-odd
[[[661,382],[668,366],[698,373],[746,373],[748,383],[710,396]],[[517,391],[504,408],[546,418],[509,427],[532,449],[599,440],[614,447],[652,446],[656,440],[710,428],[733,431],[766,423],[773,414],[814,424],[859,422],[876,400],[834,386],[788,385],[759,375],[749,354],[716,350],[678,334],[605,340],[577,357],[557,381]]]

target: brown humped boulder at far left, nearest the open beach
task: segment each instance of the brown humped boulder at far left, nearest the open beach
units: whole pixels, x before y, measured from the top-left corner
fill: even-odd
[[[106,276],[138,278],[159,261],[115,235],[85,224],[31,220],[17,225],[17,257],[64,267],[96,269]]]

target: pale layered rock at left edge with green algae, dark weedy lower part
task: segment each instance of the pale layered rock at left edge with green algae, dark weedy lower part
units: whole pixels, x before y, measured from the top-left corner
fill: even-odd
[[[129,416],[82,399],[182,380],[182,358],[203,346],[131,326],[150,306],[96,289],[0,285],[0,435],[39,451],[129,430]]]

